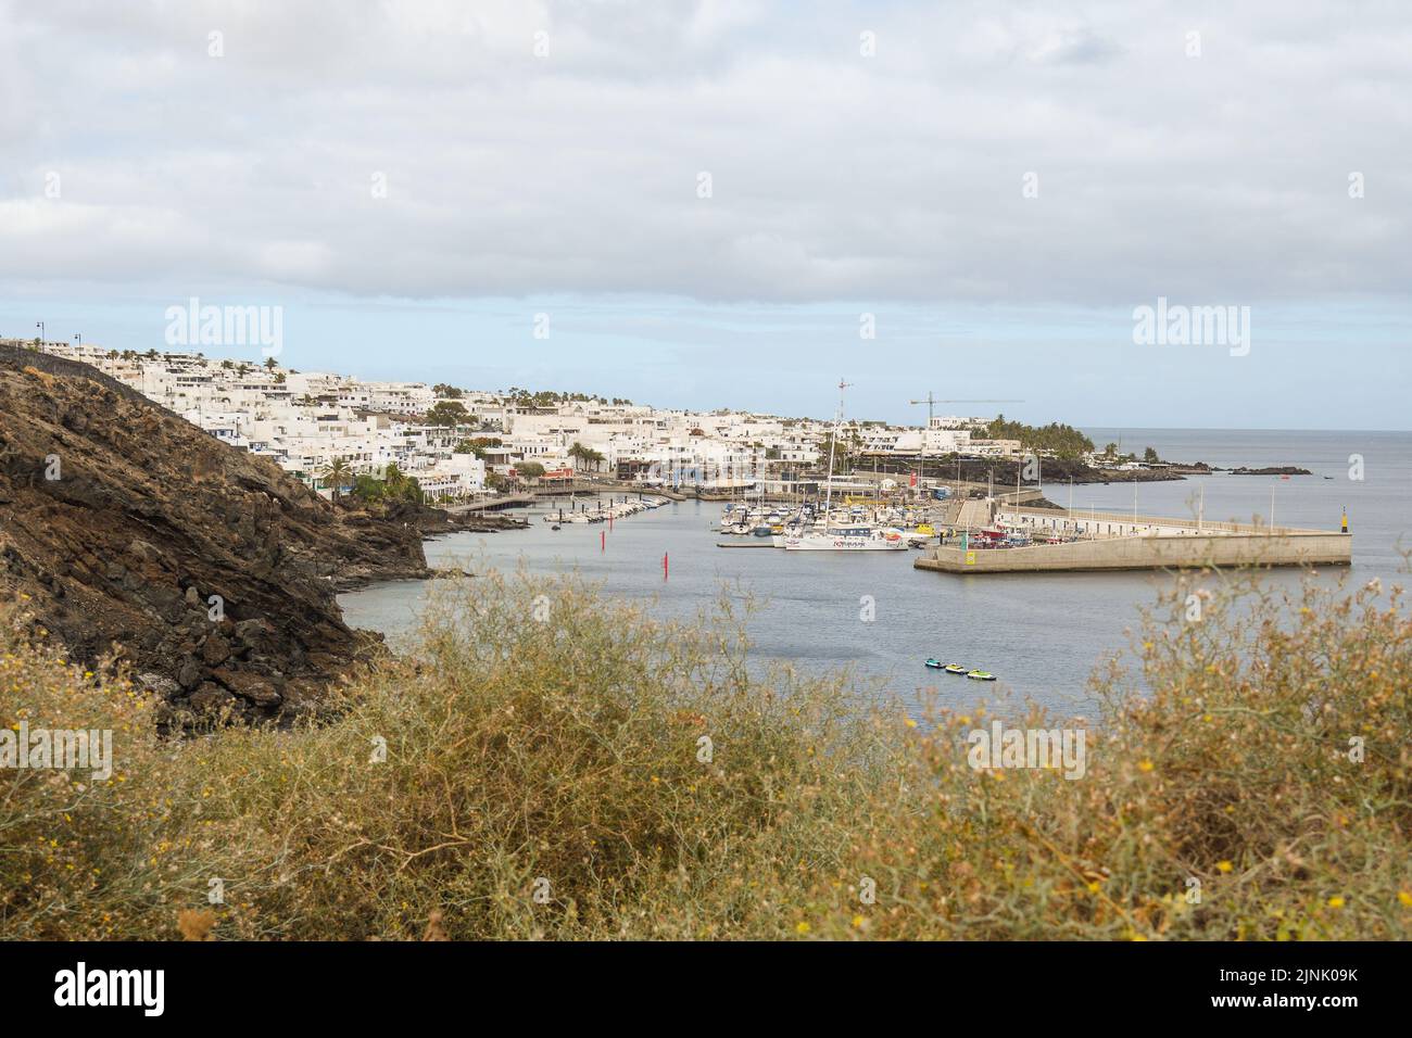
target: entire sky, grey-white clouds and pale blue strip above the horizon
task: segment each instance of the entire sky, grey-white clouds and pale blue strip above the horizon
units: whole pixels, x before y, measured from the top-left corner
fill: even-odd
[[[1401,0],[0,0],[0,335],[198,297],[299,370],[1412,428]],[[1134,343],[1159,297],[1248,352]]]

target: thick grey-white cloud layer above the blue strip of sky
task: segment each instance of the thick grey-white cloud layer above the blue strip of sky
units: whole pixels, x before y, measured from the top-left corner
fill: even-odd
[[[0,0],[0,290],[1405,297],[1409,47],[1276,0]]]

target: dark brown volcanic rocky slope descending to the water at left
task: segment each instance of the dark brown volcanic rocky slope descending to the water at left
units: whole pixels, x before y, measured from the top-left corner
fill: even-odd
[[[291,717],[369,648],[335,592],[425,576],[412,524],[335,508],[92,367],[0,352],[0,599],[169,715]]]

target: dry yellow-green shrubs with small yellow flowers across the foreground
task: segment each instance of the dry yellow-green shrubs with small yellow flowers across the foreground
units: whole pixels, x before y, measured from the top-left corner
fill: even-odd
[[[20,630],[0,724],[113,729],[116,767],[0,771],[3,938],[1412,933],[1412,621],[1374,587],[1179,583],[1079,780],[973,770],[983,710],[748,669],[729,603],[572,579],[448,585],[318,723],[182,743]]]

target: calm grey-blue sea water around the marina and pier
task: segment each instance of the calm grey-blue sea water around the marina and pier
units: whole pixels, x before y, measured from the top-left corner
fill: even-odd
[[[1333,583],[1347,573],[1361,583],[1377,576],[1389,586],[1399,579],[1402,556],[1396,544],[1406,508],[1412,507],[1405,490],[1412,486],[1412,462],[1401,460],[1412,458],[1406,434],[1240,434],[1238,439],[1228,432],[1151,435],[1166,449],[1163,436],[1172,438],[1173,453],[1223,465],[1293,459],[1319,475],[1291,480],[1210,475],[1144,484],[1138,491],[1139,518],[1187,517],[1195,527],[1204,513],[1203,528],[1237,520],[1262,528],[1258,520],[1268,515],[1274,490],[1276,528],[1317,530],[1336,528],[1347,506],[1348,539],[1356,537],[1358,544],[1353,565],[1323,566],[1317,579]],[[1385,465],[1387,477],[1367,483],[1322,477],[1346,472],[1354,451],[1365,451]],[[426,544],[426,556],[432,566],[472,573],[520,568],[544,575],[576,572],[606,595],[682,620],[712,610],[723,596],[740,606],[748,602],[751,612],[744,623],[753,658],[762,667],[778,664],[816,674],[847,667],[860,686],[873,689],[880,699],[914,703],[932,689],[967,705],[980,693],[1008,693],[1066,712],[1090,709],[1086,686],[1094,665],[1124,650],[1124,630],[1137,610],[1171,587],[1171,578],[1162,569],[1114,569],[1089,572],[1082,579],[1072,572],[1032,571],[969,580],[915,566],[943,544],[942,534],[950,545],[950,530],[964,532],[963,510],[969,508],[973,532],[987,524],[984,500],[969,497],[976,491],[984,496],[986,489],[970,484],[963,487],[966,497],[952,493],[945,501],[916,504],[915,490],[901,487],[899,494],[912,490],[914,506],[933,510],[931,514],[940,523],[938,539],[912,551],[767,551],[758,542],[771,544],[768,538],[720,532],[726,503],[690,497],[642,511],[611,530],[604,523],[554,531],[544,517],[556,514],[558,503],[537,501],[528,511],[518,510],[531,520],[525,530],[439,537]],[[1067,501],[1067,486],[1045,490],[1052,500]],[[1012,493],[1014,484],[995,497]],[[740,497],[737,493],[737,503]],[[1096,483],[1075,487],[1072,511],[1094,523],[1113,521],[1117,532],[1120,520],[1107,517],[1131,521],[1131,486]],[[847,496],[834,504],[851,507]],[[1003,506],[1000,511],[1011,508]],[[726,542],[760,549],[717,547]],[[1011,549],[994,554],[1005,551]],[[668,554],[671,569],[664,573],[662,556]],[[1303,578],[1302,569],[1289,566],[1267,575],[1275,586],[1291,589]],[[350,626],[383,631],[395,644],[401,633],[412,630],[433,590],[426,582],[388,582],[342,595],[339,602]],[[873,620],[863,620],[864,596],[873,602]],[[997,681],[967,681],[929,669],[928,658],[980,668]]]

